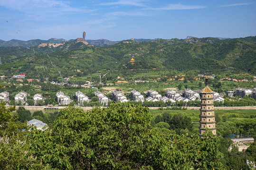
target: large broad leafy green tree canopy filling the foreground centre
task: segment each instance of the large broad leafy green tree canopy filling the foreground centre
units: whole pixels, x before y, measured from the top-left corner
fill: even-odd
[[[148,108],[127,103],[87,112],[69,107],[44,131],[27,132],[19,150],[34,169],[223,169],[218,137],[169,136],[150,126],[151,119]],[[9,157],[0,168],[28,168],[19,163],[24,156]]]

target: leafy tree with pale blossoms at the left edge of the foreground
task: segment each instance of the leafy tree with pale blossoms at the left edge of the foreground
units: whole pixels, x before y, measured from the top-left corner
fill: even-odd
[[[42,162],[28,153],[28,144],[24,142],[28,132],[22,131],[27,124],[15,122],[14,110],[15,106],[7,108],[0,102],[0,169],[43,169]]]

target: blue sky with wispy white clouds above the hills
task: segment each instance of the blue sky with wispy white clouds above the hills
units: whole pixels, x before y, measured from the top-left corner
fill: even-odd
[[[255,0],[0,0],[0,39],[237,38],[256,35]]]

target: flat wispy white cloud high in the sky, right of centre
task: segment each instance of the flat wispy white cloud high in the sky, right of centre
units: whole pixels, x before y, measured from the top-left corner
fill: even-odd
[[[200,9],[200,8],[206,8],[204,6],[199,5],[182,5],[182,4],[168,4],[166,7],[161,8],[146,8],[151,10],[181,10],[181,9]]]

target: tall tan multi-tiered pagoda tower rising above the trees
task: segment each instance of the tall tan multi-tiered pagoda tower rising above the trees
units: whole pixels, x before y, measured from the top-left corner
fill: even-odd
[[[214,104],[213,104],[213,92],[208,87],[208,77],[206,77],[206,86],[201,91],[201,109],[200,109],[200,127],[199,133],[202,136],[205,133],[206,128],[210,129],[214,135],[216,135]]]

